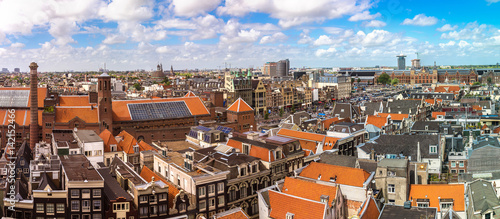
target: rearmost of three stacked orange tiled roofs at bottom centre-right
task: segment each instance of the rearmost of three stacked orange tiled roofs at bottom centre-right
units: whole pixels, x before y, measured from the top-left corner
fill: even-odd
[[[363,187],[363,183],[370,177],[370,173],[358,168],[312,162],[302,170],[300,176],[310,179],[319,178],[319,180],[327,182],[337,177],[337,184]]]

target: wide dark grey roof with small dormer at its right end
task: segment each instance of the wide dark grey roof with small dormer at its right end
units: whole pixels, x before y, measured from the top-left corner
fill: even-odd
[[[416,160],[417,144],[420,144],[420,153],[423,158],[439,157],[439,153],[429,154],[429,145],[436,145],[437,151],[440,150],[438,135],[381,135],[358,147],[368,154],[373,149],[375,154],[403,154],[405,157],[411,156],[412,160]]]

